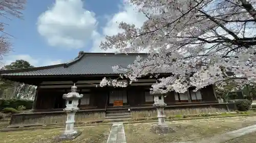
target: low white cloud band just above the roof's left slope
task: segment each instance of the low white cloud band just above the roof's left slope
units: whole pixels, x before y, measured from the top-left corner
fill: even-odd
[[[12,62],[15,62],[16,60],[25,60],[30,63],[30,65],[35,67],[40,66],[49,66],[49,65],[56,65],[61,64],[61,60],[50,60],[50,59],[36,59],[29,54],[17,54],[17,55],[7,55],[4,57],[4,61],[0,67],[3,67],[4,65],[9,65]]]

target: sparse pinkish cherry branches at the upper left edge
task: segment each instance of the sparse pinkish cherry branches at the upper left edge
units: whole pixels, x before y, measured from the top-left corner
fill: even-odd
[[[21,10],[24,10],[24,5],[26,0],[1,0],[0,1],[0,16],[5,20],[11,20],[11,16],[16,18],[22,18]],[[2,19],[2,20],[3,20]],[[5,26],[8,23],[0,21],[0,56],[3,58],[3,55],[11,50],[11,42],[9,40],[10,35],[5,32]]]

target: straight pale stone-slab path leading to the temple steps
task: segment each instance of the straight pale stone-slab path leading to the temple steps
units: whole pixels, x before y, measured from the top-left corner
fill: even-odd
[[[123,123],[113,123],[106,143],[126,143]]]

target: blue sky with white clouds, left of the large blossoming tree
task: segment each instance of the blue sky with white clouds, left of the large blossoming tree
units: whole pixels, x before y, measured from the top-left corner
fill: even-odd
[[[122,0],[28,0],[24,20],[5,20],[14,38],[13,51],[2,62],[23,59],[46,66],[68,62],[81,50],[102,52],[104,35],[121,32],[116,22],[142,25],[145,17],[134,8]]]

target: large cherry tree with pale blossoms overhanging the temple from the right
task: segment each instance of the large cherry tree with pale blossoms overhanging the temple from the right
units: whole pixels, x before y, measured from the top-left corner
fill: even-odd
[[[237,88],[256,82],[255,0],[129,3],[136,5],[147,20],[141,27],[121,22],[122,33],[106,36],[100,47],[127,53],[148,51],[146,58],[138,56],[121,75],[130,83],[146,75],[172,73],[159,78],[152,85],[153,92],[184,93],[189,87],[221,87],[227,80],[239,82]],[[104,78],[100,86],[111,81]]]

